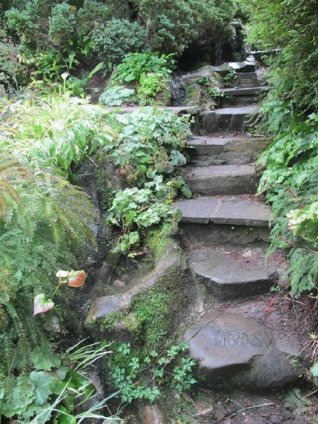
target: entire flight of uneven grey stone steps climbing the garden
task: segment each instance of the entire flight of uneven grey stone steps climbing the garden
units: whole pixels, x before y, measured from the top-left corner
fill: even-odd
[[[175,203],[189,268],[206,288],[206,300],[217,302],[184,340],[205,385],[269,389],[298,378],[300,368],[290,360],[298,355],[298,340],[266,323],[266,303],[254,298],[269,293],[280,271],[274,262],[265,265],[271,211],[253,195],[259,182],[254,162],[269,140],[246,132],[266,87],[250,67],[240,69],[235,84],[223,89],[235,107],[201,114],[198,135],[189,141],[192,163],[184,169],[194,198]]]

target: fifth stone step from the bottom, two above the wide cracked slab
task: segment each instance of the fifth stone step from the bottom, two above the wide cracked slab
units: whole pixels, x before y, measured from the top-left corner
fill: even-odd
[[[255,162],[269,145],[265,137],[243,136],[196,136],[188,142],[195,148],[192,163],[198,166],[227,165]]]

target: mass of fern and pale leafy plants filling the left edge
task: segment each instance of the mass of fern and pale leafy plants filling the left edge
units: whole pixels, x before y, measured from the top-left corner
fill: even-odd
[[[95,209],[65,177],[110,137],[100,120],[98,107],[59,95],[17,102],[1,122],[0,413],[21,422],[41,411],[34,419],[45,423],[61,403],[72,416],[71,387],[87,394],[88,379],[54,353],[59,333],[79,331],[72,289],[55,274],[95,249]]]

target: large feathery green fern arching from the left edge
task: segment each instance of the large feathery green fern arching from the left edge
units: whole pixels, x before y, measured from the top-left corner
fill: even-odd
[[[0,163],[1,182],[8,184],[1,187],[9,187],[0,218],[0,389],[9,393],[13,375],[28,375],[35,346],[49,343],[42,325],[50,314],[33,317],[34,295],[52,293],[56,271],[76,266],[78,253],[95,248],[95,211],[88,195],[61,177],[28,170],[4,154]],[[67,322],[66,308],[54,314]]]

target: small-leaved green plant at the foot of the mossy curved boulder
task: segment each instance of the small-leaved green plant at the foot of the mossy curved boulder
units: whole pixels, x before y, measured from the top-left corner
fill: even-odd
[[[195,361],[184,357],[187,343],[173,345],[163,352],[133,351],[129,343],[117,343],[108,361],[110,381],[120,390],[123,402],[135,399],[155,401],[163,387],[181,393],[189,390],[196,379],[192,375]]]

